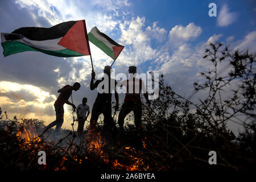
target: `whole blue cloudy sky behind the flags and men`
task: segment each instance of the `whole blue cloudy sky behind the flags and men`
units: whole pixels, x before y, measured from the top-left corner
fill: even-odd
[[[217,16],[210,17],[209,3],[216,3]],[[255,1],[119,1],[119,0],[11,0],[0,1],[1,32],[20,27],[51,27],[69,20],[86,20],[88,32],[94,26],[125,46],[113,68],[127,73],[136,65],[138,73],[163,73],[175,92],[188,97],[197,72],[208,68],[201,59],[209,42],[224,42],[231,48],[256,52]],[[96,74],[112,59],[90,44]],[[2,49],[2,47],[1,47]],[[61,58],[40,52],[0,55],[0,107],[10,117],[55,119],[53,103],[57,90],[81,82],[73,93],[75,105],[88,97],[92,109],[96,91],[89,90],[89,56]],[[193,97],[196,100],[197,94]],[[122,103],[123,98],[120,100]],[[72,122],[65,106],[64,127]]]

